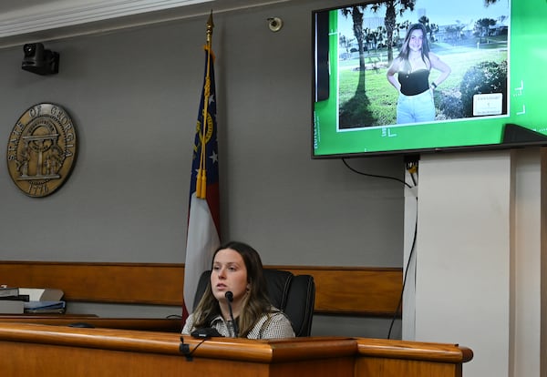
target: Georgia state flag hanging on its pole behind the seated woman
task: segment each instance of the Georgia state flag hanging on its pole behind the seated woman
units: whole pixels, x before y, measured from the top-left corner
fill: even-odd
[[[186,317],[192,311],[201,273],[211,269],[212,253],[220,245],[219,161],[212,27],[211,13],[207,21],[207,45],[204,47],[205,75],[191,164],[183,321],[186,321]]]

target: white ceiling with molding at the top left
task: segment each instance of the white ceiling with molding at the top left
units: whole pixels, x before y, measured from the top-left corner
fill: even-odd
[[[0,0],[0,48],[295,0]]]

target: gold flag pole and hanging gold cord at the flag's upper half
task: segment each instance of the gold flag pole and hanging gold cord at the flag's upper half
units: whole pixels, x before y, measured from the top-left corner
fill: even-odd
[[[205,71],[205,84],[203,86],[203,114],[201,114],[201,155],[200,155],[200,168],[198,170],[198,177],[196,182],[196,196],[200,199],[206,198],[207,193],[207,170],[205,168],[205,144],[206,132],[207,132],[207,120],[208,120],[208,107],[209,107],[209,97],[211,96],[211,58],[212,58],[212,28],[214,24],[212,23],[212,10],[209,18],[207,19],[207,45],[205,50],[207,51],[207,69]]]

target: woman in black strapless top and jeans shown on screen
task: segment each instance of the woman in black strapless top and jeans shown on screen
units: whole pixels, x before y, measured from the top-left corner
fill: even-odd
[[[431,68],[439,70],[440,75],[429,84]],[[435,120],[433,90],[449,74],[450,67],[429,51],[426,27],[410,25],[399,55],[387,69],[387,80],[399,92],[397,124]]]

